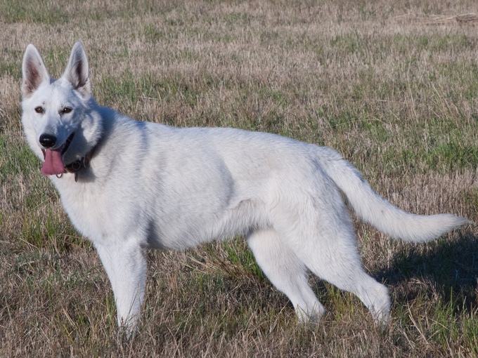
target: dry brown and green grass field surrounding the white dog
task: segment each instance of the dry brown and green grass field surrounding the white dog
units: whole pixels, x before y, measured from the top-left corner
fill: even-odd
[[[151,252],[141,331],[122,340],[98,256],[20,126],[27,44],[59,77],[81,40],[101,105],[326,145],[393,204],[478,222],[478,21],[459,16],[476,1],[23,3],[0,0],[1,357],[478,356],[474,225],[415,245],[356,221],[363,265],[392,296],[386,327],[315,277],[328,313],[297,325],[240,237]]]

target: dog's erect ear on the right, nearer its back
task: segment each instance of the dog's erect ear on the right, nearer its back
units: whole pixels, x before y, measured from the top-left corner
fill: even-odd
[[[89,80],[88,58],[81,42],[77,42],[66,65],[63,78],[72,84],[84,97],[91,95],[91,82]]]

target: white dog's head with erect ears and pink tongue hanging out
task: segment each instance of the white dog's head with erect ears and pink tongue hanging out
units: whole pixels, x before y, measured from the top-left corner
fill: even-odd
[[[41,173],[58,175],[88,153],[102,123],[91,93],[86,53],[72,48],[60,79],[51,79],[37,48],[27,46],[22,65],[22,124],[32,150],[44,159]]]

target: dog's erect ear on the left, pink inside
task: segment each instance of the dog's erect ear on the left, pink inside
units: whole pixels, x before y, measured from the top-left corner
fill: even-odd
[[[22,73],[22,95],[24,98],[29,98],[34,91],[37,91],[43,81],[50,81],[45,64],[41,60],[37,48],[32,44],[27,46],[25,55],[23,55]]]

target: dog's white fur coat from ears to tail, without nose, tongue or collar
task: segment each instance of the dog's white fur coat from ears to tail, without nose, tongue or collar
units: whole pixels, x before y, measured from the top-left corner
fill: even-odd
[[[22,72],[22,124],[33,152],[44,159],[42,134],[56,138],[58,150],[75,133],[60,159],[65,165],[95,148],[77,182],[72,173],[50,178],[72,223],[93,241],[118,322],[129,332],[143,302],[147,248],[181,250],[245,234],[261,270],[302,321],[324,313],[307,283],[310,270],[356,294],[385,322],[387,288],[361,267],[340,192],[364,221],[406,241],[427,241],[467,223],[401,211],[326,147],[232,128],[172,128],[99,107],[79,42],[60,79],[51,79],[33,45]]]

